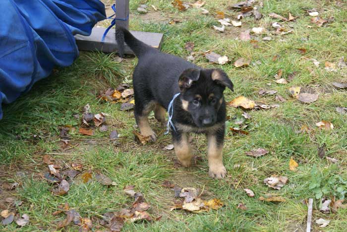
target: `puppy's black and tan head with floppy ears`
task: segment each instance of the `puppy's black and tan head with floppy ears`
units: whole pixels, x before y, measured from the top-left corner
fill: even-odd
[[[178,86],[182,108],[198,127],[216,123],[218,111],[225,104],[223,91],[226,87],[233,91],[231,80],[221,69],[187,69],[180,75]]]

